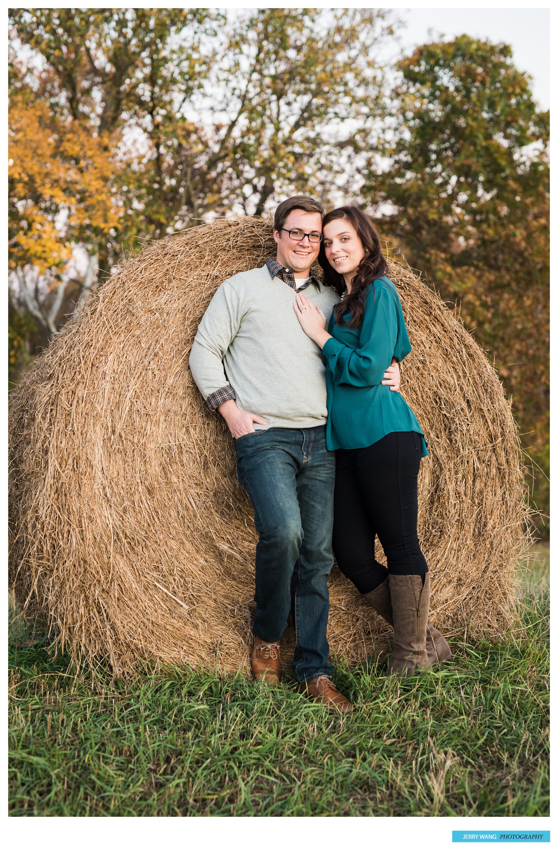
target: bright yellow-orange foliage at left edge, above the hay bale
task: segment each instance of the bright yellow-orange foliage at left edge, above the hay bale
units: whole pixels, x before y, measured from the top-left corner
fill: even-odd
[[[53,117],[45,102],[9,113],[10,267],[61,268],[71,243],[94,242],[118,224],[117,169],[109,140],[89,125]]]

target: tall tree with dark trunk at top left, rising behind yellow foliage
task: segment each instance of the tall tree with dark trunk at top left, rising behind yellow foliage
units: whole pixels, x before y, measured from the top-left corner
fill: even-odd
[[[153,128],[158,108],[174,113],[176,97],[187,99],[201,85],[211,59],[202,57],[200,42],[215,35],[213,17],[206,9],[12,10],[12,42],[31,48],[43,66],[17,83],[36,89],[55,119],[81,126],[75,131],[98,138],[121,164],[126,130],[142,122]],[[146,145],[142,154],[149,158]],[[111,191],[124,213],[97,240],[102,276],[118,260],[122,239],[137,230],[132,220],[141,211],[133,198],[128,202],[122,172],[115,167]]]

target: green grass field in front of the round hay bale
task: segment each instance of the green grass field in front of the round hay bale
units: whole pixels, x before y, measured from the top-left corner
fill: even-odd
[[[548,815],[549,556],[533,551],[505,643],[453,639],[447,666],[406,680],[382,676],[386,656],[339,667],[344,719],[240,676],[76,675],[13,617],[10,814]]]

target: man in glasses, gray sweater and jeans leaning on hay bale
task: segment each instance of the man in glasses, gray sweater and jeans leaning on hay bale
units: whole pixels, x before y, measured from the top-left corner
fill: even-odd
[[[220,412],[232,433],[238,479],[254,507],[254,678],[279,681],[279,642],[290,609],[300,690],[350,711],[332,684],[326,639],[335,479],[325,438],[326,367],[293,311],[297,291],[310,286],[326,318],[339,300],[310,269],[323,215],[312,197],[277,207],[276,259],[220,285],[199,324],[190,368],[209,409]],[[399,386],[399,369],[390,368],[386,378]]]

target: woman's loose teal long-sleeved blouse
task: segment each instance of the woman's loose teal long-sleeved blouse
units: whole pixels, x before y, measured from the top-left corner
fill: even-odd
[[[383,374],[395,357],[403,361],[411,351],[399,295],[387,276],[375,280],[365,293],[362,325],[351,329],[329,322],[322,353],[326,359],[328,450],[352,450],[375,444],[390,432],[422,435],[422,456],[427,445],[410,406],[389,385]]]

